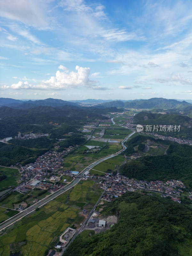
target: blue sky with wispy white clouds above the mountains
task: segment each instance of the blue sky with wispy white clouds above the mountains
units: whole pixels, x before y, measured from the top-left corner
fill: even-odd
[[[0,2],[0,97],[192,99],[191,0]]]

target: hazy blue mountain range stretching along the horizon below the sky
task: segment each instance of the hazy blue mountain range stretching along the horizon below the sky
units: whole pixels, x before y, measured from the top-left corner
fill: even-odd
[[[97,104],[100,103],[100,104]],[[178,109],[182,111],[192,110],[192,104],[187,101],[164,99],[164,98],[151,98],[148,100],[73,100],[66,101],[60,99],[45,99],[45,100],[14,100],[10,98],[0,98],[0,107],[7,106],[14,109],[27,109],[36,108],[39,106],[49,106],[53,108],[60,108],[62,106],[76,106],[81,107],[82,104],[95,105],[96,108],[138,108],[138,109]]]

